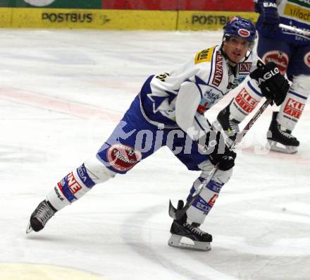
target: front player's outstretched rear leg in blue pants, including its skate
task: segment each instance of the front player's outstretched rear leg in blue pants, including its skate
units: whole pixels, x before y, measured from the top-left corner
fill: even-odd
[[[116,174],[125,174],[135,164],[158,150],[164,143],[156,141],[156,126],[147,123],[135,99],[122,121],[96,157],[87,159],[59,181],[30,217],[27,233],[40,231],[54,214],[83,197],[97,183],[104,183]],[[147,134],[147,137],[146,137]]]

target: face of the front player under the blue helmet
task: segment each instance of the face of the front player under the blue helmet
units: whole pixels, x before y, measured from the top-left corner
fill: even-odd
[[[246,56],[247,51],[249,51],[249,48],[251,47],[251,42],[240,37],[231,36],[224,41],[223,47],[225,54],[230,61],[238,63],[244,58],[244,56]]]

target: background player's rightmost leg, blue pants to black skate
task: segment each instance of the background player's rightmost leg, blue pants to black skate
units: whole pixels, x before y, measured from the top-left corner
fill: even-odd
[[[310,88],[310,46],[292,48],[292,58],[287,68],[287,76],[292,81],[290,90],[268,130],[268,142],[271,150],[292,154],[297,152],[299,141],[292,135],[292,130],[299,121]]]

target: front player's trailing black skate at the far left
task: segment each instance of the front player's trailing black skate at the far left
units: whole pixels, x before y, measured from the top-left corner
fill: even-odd
[[[30,233],[31,231],[41,231],[47,221],[49,221],[56,212],[57,210],[48,200],[43,200],[31,214],[26,233]]]

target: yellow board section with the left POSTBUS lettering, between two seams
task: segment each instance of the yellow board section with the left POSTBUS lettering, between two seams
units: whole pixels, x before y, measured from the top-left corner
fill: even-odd
[[[12,28],[89,28],[101,30],[175,30],[177,11],[122,11],[13,8]]]

